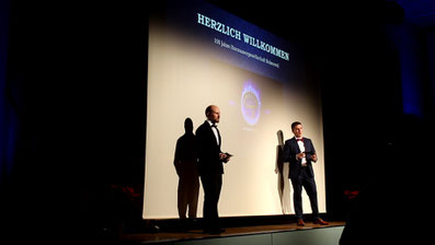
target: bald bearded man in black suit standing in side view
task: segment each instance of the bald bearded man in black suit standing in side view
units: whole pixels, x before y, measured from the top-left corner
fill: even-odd
[[[196,129],[198,154],[198,171],[204,188],[204,233],[220,234],[218,202],[222,187],[222,162],[229,161],[229,155],[220,151],[221,138],[217,124],[220,110],[216,105],[207,106],[207,120]]]

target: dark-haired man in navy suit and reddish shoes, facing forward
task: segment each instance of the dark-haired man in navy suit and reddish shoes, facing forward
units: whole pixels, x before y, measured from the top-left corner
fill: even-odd
[[[291,179],[294,188],[294,206],[297,224],[304,226],[302,211],[302,187],[305,188],[311,203],[312,219],[314,224],[329,224],[319,217],[317,187],[312,163],[317,162],[314,145],[311,140],[302,137],[302,124],[295,121],[291,124],[294,138],[286,140],[284,145],[284,162],[289,163],[288,177]]]

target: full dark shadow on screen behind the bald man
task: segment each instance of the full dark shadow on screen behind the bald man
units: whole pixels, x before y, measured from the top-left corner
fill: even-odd
[[[196,163],[195,135],[191,118],[184,120],[185,133],[176,140],[174,167],[179,175],[178,209],[180,219],[196,218],[199,175]]]

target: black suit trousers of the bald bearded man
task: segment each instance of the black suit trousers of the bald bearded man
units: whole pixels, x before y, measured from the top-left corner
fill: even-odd
[[[204,188],[204,230],[220,229],[218,202],[222,187],[222,174],[201,174],[201,182]]]

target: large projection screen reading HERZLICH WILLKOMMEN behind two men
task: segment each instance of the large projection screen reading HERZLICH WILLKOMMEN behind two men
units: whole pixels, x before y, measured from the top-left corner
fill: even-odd
[[[234,155],[224,166],[220,217],[294,213],[288,163],[282,185],[277,147],[278,131],[291,138],[295,120],[317,150],[319,210],[325,212],[320,91],[308,79],[304,51],[206,2],[168,1],[163,12],[149,24],[142,218],[179,218],[175,144],[184,120],[191,118],[195,131],[211,104],[221,112],[221,150]],[[198,218],[203,201],[201,187]],[[305,192],[302,203],[311,213]]]

